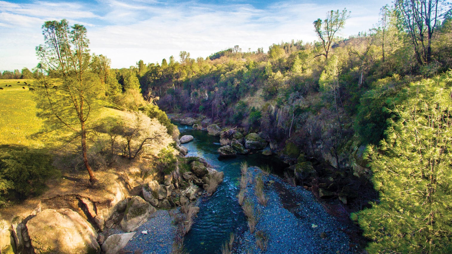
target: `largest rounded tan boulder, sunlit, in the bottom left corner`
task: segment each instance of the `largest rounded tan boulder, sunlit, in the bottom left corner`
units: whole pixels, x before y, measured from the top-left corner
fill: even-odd
[[[71,209],[46,209],[28,220],[27,228],[36,254],[100,253],[96,230]]]

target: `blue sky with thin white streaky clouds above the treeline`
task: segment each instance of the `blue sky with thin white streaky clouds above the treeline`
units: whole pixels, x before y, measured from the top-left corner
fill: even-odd
[[[206,58],[235,45],[266,52],[282,41],[313,42],[312,22],[329,10],[351,11],[339,34],[347,38],[377,24],[386,4],[391,0],[0,0],[0,71],[38,64],[35,48],[48,20],[84,25],[91,53],[127,68],[178,60],[180,51]]]

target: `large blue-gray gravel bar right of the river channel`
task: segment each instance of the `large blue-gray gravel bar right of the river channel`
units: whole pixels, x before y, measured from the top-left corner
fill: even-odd
[[[253,179],[261,172],[258,168],[249,168],[249,171],[253,173]],[[235,253],[346,254],[358,252],[354,247],[350,247],[350,240],[342,231],[343,226],[325,211],[311,192],[302,187],[292,187],[273,175],[263,175],[262,178],[264,192],[268,196],[267,206],[264,207],[258,203],[254,195],[254,184],[248,184],[247,196],[254,202],[255,209],[260,211],[256,231],[262,230],[268,236],[267,251],[262,252],[257,247],[254,234],[250,234],[247,228],[237,236]],[[275,183],[268,186],[269,180]],[[288,192],[292,195],[286,195]],[[294,206],[291,209],[292,212],[283,208],[281,196],[285,203],[292,202]],[[322,232],[326,234],[326,238],[320,237]]]

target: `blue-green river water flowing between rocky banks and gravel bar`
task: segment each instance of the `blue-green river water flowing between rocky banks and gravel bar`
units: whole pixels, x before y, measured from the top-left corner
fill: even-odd
[[[253,154],[237,155],[235,158],[219,158],[219,137],[207,135],[206,131],[179,125],[182,135],[192,135],[193,141],[183,144],[188,148],[188,156],[205,158],[217,171],[224,172],[224,180],[211,197],[205,198],[192,229],[185,235],[184,245],[191,254],[220,253],[221,245],[229,239],[231,232],[237,233],[247,228],[236,195],[239,192],[240,163],[249,166],[269,165],[275,171],[282,171],[284,164],[275,156],[264,156],[261,151]]]

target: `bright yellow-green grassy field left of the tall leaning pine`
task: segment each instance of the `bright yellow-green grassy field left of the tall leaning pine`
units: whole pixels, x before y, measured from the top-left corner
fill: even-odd
[[[32,79],[0,79],[0,87],[3,88],[0,90],[0,144],[41,144],[30,138],[41,128],[42,120],[36,116],[33,92],[28,91],[24,82],[34,83]]]

